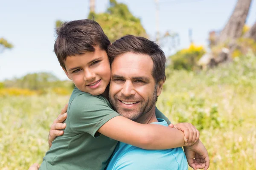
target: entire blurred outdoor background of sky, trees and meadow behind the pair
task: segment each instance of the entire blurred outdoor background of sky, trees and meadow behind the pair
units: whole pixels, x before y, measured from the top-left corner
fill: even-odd
[[[211,170],[256,169],[255,0],[12,0],[0,10],[0,169],[41,163],[73,83],[53,52],[62,22],[94,18],[166,54],[157,107],[201,132]]]

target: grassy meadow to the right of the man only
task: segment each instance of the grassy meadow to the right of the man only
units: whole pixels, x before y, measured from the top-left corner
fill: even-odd
[[[200,73],[173,70],[157,108],[200,129],[210,169],[256,169],[256,56]],[[191,169],[191,168],[190,168]]]

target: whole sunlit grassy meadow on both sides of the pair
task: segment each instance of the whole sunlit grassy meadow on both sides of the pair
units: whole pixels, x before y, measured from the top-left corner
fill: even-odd
[[[157,107],[201,132],[211,170],[256,169],[256,57],[207,72],[167,71]],[[26,170],[48,150],[49,127],[69,96],[0,96],[0,169]]]

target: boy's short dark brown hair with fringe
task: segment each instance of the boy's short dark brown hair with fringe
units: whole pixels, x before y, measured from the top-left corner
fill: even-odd
[[[61,67],[65,68],[67,56],[93,52],[93,45],[107,51],[110,41],[101,26],[94,20],[74,20],[65,22],[57,28],[57,38],[54,43],[54,52]],[[66,69],[66,68],[65,68]]]

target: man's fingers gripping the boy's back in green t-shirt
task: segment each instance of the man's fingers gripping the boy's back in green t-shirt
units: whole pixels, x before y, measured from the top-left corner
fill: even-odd
[[[58,115],[57,119],[53,121],[53,124],[51,126],[49,136],[48,136],[48,143],[49,147],[52,146],[52,141],[57,137],[63,135],[64,129],[66,127],[66,124],[63,123],[67,119],[67,104],[64,106],[63,109],[61,109],[61,113]]]

